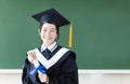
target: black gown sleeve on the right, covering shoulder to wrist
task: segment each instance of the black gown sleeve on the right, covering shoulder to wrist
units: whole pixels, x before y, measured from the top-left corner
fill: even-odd
[[[50,76],[49,84],[78,84],[78,68],[74,52],[67,56],[61,67],[62,73],[56,78]]]

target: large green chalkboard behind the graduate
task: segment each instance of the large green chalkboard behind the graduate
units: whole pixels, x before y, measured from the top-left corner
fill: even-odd
[[[129,0],[0,0],[0,69],[21,69],[38,47],[39,24],[30,15],[54,8],[73,24],[79,69],[130,69]],[[68,26],[61,28],[66,46]]]

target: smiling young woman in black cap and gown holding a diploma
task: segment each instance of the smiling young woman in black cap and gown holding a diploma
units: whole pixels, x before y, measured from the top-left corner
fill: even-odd
[[[56,43],[58,28],[70,23],[54,9],[35,14],[32,17],[40,23],[38,31],[42,44],[27,52],[22,75],[23,84],[78,84],[75,52]]]

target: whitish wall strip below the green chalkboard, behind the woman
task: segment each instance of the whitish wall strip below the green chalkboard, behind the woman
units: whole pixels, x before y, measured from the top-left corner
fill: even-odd
[[[0,84],[22,84],[22,70],[0,70]],[[130,84],[130,70],[79,70],[79,84]]]

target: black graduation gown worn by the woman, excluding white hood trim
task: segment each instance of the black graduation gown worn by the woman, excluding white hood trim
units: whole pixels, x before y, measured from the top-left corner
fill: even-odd
[[[52,53],[53,56],[61,46],[57,46]],[[40,51],[40,47],[39,47]],[[42,84],[38,78],[38,73],[30,75],[29,72],[34,66],[25,59],[23,68],[23,84]],[[76,64],[76,54],[73,51],[66,52],[56,64],[46,69],[49,76],[49,84],[78,84],[78,68]]]

